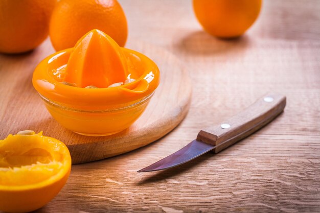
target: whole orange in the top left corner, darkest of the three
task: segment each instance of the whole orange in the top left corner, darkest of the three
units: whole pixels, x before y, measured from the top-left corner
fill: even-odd
[[[48,36],[56,0],[1,0],[0,52],[33,50]]]

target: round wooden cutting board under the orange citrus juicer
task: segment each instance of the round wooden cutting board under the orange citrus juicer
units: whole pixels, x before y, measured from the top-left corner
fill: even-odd
[[[73,164],[119,155],[163,137],[184,119],[191,100],[191,81],[186,69],[170,53],[141,41],[127,45],[155,61],[161,83],[146,111],[121,133],[90,137],[73,133],[57,123],[45,109],[32,86],[35,66],[54,53],[47,39],[41,46],[22,55],[0,55],[0,138],[20,130],[43,131],[63,141]]]

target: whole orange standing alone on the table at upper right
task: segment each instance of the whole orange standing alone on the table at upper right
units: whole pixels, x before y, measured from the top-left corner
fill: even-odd
[[[257,19],[262,0],[193,0],[193,9],[205,31],[213,36],[242,35]]]

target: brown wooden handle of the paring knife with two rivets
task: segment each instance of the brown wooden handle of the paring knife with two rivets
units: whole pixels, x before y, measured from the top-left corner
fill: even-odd
[[[231,119],[201,130],[197,140],[217,146],[213,151],[218,153],[271,122],[285,106],[285,96],[268,93]]]

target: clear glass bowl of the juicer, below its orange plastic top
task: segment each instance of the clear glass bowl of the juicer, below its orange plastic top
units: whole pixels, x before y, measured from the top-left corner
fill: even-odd
[[[129,105],[83,110],[70,108],[40,94],[45,107],[57,122],[75,133],[87,136],[106,136],[128,128],[140,117],[152,96],[153,93]]]

